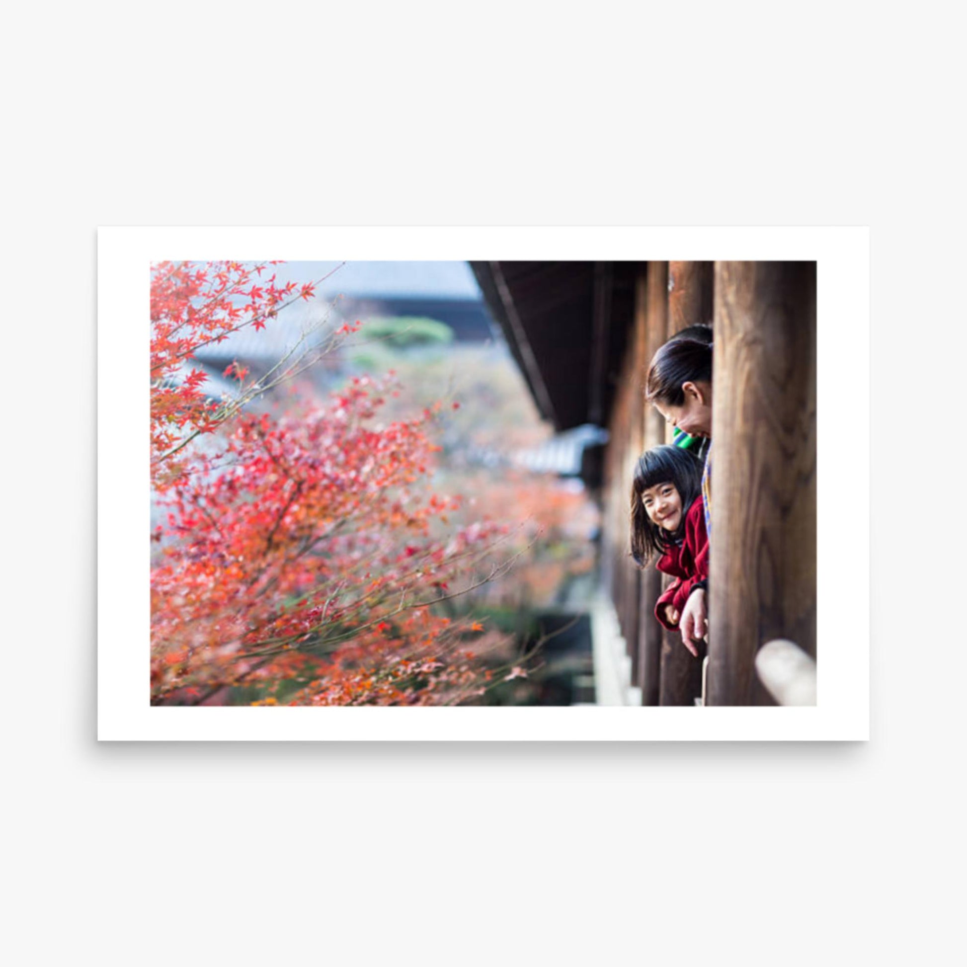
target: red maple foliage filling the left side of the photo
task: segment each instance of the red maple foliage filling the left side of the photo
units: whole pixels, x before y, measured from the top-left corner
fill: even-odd
[[[357,378],[274,415],[212,400],[194,351],[271,325],[310,285],[268,265],[162,263],[152,272],[151,695],[156,704],[428,704],[473,699],[503,669],[492,633],[448,614],[512,562],[507,527],[459,525],[430,481],[439,406],[383,419],[393,387]],[[339,336],[347,335],[343,327]],[[205,448],[199,438],[208,440]],[[514,666],[511,675],[520,674]]]

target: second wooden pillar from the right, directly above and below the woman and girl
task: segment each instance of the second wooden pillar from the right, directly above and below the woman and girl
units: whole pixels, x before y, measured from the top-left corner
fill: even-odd
[[[666,337],[695,323],[712,323],[713,273],[712,262],[668,263]],[[662,583],[667,586],[670,581],[665,578]],[[660,681],[661,705],[694,705],[702,694],[701,659],[691,656],[679,631],[661,631]]]

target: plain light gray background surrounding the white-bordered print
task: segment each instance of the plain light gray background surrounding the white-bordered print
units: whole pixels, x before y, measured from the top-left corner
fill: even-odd
[[[13,962],[951,959],[964,535],[940,443],[963,419],[964,78],[948,9],[7,15]],[[316,223],[870,225],[872,741],[98,745],[96,226]],[[865,431],[848,412],[841,427]],[[849,467],[820,473],[843,480],[848,595],[867,505]]]

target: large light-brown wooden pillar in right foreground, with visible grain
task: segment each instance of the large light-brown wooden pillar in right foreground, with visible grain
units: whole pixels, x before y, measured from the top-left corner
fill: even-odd
[[[715,269],[709,704],[771,704],[771,638],[816,654],[816,265]]]

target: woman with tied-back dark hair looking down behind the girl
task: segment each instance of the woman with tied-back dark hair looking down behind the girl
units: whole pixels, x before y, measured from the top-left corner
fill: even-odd
[[[712,436],[711,340],[674,337],[655,354],[645,379],[645,399],[676,429],[689,436]],[[702,473],[702,502],[706,534],[712,533],[712,446]],[[708,631],[705,587],[695,589],[680,615],[679,628],[685,647],[694,655],[695,640]]]

